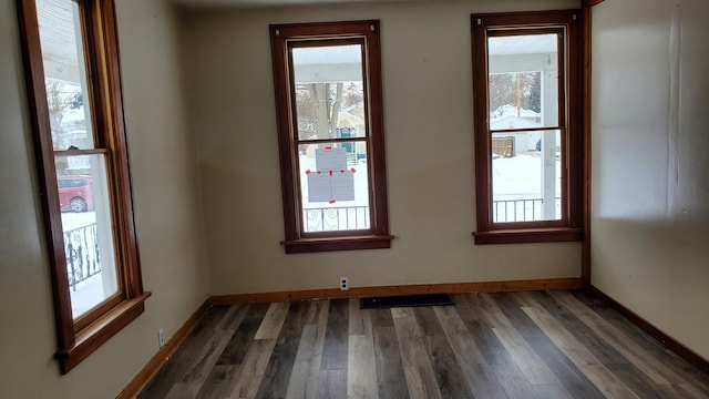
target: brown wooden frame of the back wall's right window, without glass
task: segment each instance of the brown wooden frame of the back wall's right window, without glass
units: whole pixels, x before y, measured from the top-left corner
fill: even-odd
[[[475,141],[475,196],[477,231],[475,244],[576,242],[583,238],[583,131],[582,131],[582,41],[580,10],[472,14],[473,113]],[[559,126],[562,132],[562,217],[558,221],[492,221],[492,140],[489,124],[487,38],[524,32],[556,33],[562,30],[564,45],[559,62],[564,82],[559,84]]]

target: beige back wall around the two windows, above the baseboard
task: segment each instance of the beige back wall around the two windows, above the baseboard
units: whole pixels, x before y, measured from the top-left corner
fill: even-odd
[[[475,246],[473,12],[577,1],[319,6],[183,13],[215,295],[578,277],[578,243]],[[380,19],[391,249],[285,255],[269,23]]]

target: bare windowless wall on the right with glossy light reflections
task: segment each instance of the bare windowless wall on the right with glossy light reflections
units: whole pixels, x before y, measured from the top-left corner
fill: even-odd
[[[709,359],[705,0],[593,12],[593,284]]]

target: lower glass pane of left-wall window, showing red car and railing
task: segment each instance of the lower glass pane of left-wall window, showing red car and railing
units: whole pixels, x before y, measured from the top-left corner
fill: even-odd
[[[117,293],[103,155],[58,156],[64,254],[74,319]]]

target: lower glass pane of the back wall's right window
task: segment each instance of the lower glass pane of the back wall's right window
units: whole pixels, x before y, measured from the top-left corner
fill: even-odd
[[[492,143],[493,222],[561,219],[561,132],[493,133]]]

